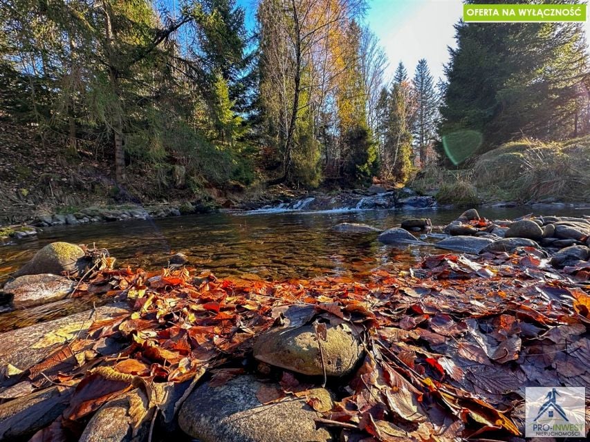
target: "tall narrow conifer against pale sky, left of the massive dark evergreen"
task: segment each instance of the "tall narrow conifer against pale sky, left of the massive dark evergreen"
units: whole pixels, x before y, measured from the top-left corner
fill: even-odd
[[[416,101],[416,115],[412,133],[420,155],[420,164],[424,167],[428,148],[432,144],[436,132],[436,113],[439,105],[434,80],[425,59],[418,61],[412,85]]]

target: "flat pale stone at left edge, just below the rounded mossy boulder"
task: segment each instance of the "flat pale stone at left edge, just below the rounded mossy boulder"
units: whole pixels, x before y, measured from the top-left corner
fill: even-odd
[[[31,307],[45,304],[68,296],[73,291],[76,282],[51,273],[19,276],[15,280],[6,282],[0,290],[12,295],[15,307]]]

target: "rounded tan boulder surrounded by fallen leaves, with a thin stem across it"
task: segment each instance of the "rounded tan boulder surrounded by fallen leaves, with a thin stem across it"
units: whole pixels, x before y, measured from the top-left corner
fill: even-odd
[[[321,346],[321,349],[320,349]],[[253,348],[257,360],[309,376],[344,376],[363,354],[362,339],[347,325],[326,324],[325,340],[317,340],[312,324],[276,327],[261,334]]]

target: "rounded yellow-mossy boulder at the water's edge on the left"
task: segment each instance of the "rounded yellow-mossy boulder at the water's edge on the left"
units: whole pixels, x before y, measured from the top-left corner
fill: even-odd
[[[52,242],[35,253],[33,259],[17,270],[13,276],[38,273],[59,275],[63,271],[79,273],[87,264],[84,251],[80,246],[69,242]]]

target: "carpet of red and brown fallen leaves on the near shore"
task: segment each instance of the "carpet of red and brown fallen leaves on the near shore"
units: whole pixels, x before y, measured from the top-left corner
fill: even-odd
[[[330,410],[316,407],[320,425],[342,440],[522,441],[524,387],[590,385],[589,270],[557,272],[535,249],[477,260],[430,256],[362,283],[104,269],[73,296],[104,294],[131,309],[95,321],[26,373],[39,389],[76,386],[53,433],[37,440],[49,440],[56,426],[75,428],[133,388],[150,396],[156,385],[194,386],[203,375],[221,385],[249,369],[253,338],[276,325],[285,306],[311,305],[366,330],[362,365]],[[282,396],[297,391],[296,375],[279,377]]]

